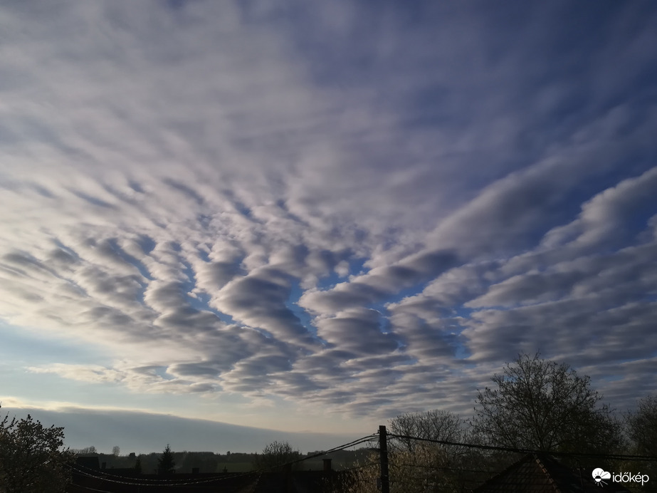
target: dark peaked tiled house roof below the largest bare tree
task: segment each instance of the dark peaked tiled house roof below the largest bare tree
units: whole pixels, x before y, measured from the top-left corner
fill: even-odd
[[[630,493],[611,481],[594,482],[589,469],[570,469],[550,455],[528,454],[473,493]]]

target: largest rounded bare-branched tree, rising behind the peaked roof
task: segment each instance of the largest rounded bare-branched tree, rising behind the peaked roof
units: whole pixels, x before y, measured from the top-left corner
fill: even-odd
[[[493,445],[545,451],[617,452],[621,423],[590,378],[569,365],[522,355],[477,396],[472,424]]]

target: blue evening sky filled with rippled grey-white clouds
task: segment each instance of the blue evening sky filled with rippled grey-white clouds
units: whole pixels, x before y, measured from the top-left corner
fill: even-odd
[[[537,351],[633,408],[656,25],[651,1],[2,2],[2,414],[106,451],[213,450],[204,423],[326,449],[468,417]]]

